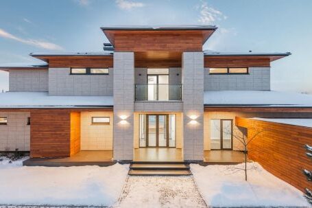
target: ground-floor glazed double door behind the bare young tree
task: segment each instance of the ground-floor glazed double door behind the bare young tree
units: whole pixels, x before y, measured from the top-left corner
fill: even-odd
[[[232,120],[211,119],[211,150],[232,150]]]

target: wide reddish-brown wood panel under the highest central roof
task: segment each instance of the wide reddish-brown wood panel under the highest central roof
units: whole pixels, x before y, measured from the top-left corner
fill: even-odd
[[[119,31],[115,51],[202,51],[202,31]]]

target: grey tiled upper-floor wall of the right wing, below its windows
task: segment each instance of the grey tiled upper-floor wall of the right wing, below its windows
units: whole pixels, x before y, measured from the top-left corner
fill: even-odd
[[[249,74],[218,75],[204,70],[205,91],[256,91],[270,90],[270,68],[249,67]]]

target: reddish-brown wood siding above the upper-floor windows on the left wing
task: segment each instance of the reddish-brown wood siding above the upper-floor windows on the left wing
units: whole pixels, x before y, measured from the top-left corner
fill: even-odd
[[[49,62],[49,67],[112,67],[112,56],[35,56]]]

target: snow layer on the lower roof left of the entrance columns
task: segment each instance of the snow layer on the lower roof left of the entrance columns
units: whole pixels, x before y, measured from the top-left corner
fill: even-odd
[[[49,96],[48,93],[0,93],[0,108],[111,107],[112,96]]]

